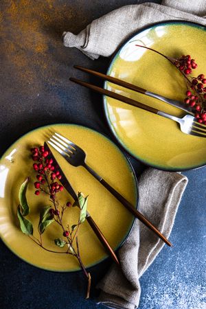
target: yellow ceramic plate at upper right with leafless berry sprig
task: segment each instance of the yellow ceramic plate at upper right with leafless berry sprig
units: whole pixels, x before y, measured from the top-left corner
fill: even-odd
[[[145,45],[174,58],[190,54],[198,63],[194,76],[206,73],[206,27],[187,22],[159,23],[123,45],[108,69],[108,75],[174,100],[185,98],[185,82],[168,60]],[[106,89],[176,116],[184,112],[159,100],[106,82]],[[108,124],[120,144],[142,162],[163,170],[188,170],[205,165],[206,139],[186,135],[179,124],[140,108],[104,97]]]

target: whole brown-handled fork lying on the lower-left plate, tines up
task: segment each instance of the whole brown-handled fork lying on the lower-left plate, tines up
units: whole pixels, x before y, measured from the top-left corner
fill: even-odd
[[[80,166],[82,165],[88,172],[90,172],[95,179],[100,181],[106,189],[117,198],[119,202],[122,203],[136,218],[138,218],[141,222],[144,223],[148,228],[150,228],[152,231],[154,231],[163,242],[168,244],[168,246],[172,246],[172,244],[161,234],[161,232],[152,225],[152,223],[146,219],[130,202],[124,198],[119,192],[117,192],[111,185],[109,185],[100,175],[98,175],[87,163],[85,162],[86,159],[86,153],[82,148],[80,148],[78,145],[74,144],[72,141],[69,141],[69,139],[63,137],[62,135],[55,133],[52,135],[52,137],[49,139],[48,143],[54,147],[62,157],[64,157],[67,162],[69,162],[73,166]]]

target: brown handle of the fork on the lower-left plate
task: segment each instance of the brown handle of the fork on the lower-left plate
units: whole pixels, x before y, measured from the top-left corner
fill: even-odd
[[[156,227],[154,227],[154,225],[152,225],[152,223],[148,219],[146,219],[132,204],[130,204],[126,200],[126,198],[124,198],[124,196],[119,194],[119,192],[117,192],[113,187],[111,187],[111,185],[109,185],[104,179],[101,179],[100,183],[102,183],[102,185],[104,185],[104,187],[106,187],[106,189],[111,192],[111,194],[113,194],[113,196],[115,196],[115,198],[117,198],[117,200],[121,202],[122,205],[124,205],[136,218],[138,218],[142,223],[144,223],[144,225],[146,225],[149,229],[154,231],[159,236],[159,238],[163,240],[163,242],[168,244],[168,246],[170,247],[172,246],[171,242],[169,242],[167,238],[165,238],[165,236],[163,236],[161,232]]]

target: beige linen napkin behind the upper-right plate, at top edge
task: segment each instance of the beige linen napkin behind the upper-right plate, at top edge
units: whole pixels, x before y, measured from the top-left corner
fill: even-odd
[[[91,59],[111,56],[126,38],[160,21],[183,19],[206,24],[205,0],[163,0],[162,4],[126,5],[95,19],[77,36],[63,33],[66,47],[77,47]]]

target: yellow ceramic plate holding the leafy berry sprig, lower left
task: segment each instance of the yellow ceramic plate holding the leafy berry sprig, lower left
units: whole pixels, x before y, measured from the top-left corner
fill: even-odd
[[[43,142],[58,132],[81,146],[87,153],[87,163],[108,183],[113,185],[125,198],[137,206],[137,183],[130,163],[119,148],[109,139],[89,128],[69,124],[56,124],[38,128],[16,141],[3,155],[0,161],[0,236],[5,244],[20,258],[50,271],[76,271],[78,262],[71,255],[49,253],[38,247],[25,236],[16,218],[19,205],[19,186],[27,176],[31,177],[28,185],[27,201],[31,208],[28,216],[34,225],[34,236],[38,237],[38,212],[43,205],[49,205],[49,198],[44,194],[34,195],[34,161],[30,159],[30,148],[43,145]],[[53,151],[60,167],[65,172],[76,192],[89,194],[88,210],[113,249],[117,249],[126,239],[134,218],[87,170],[75,168]],[[62,192],[62,203],[71,201],[67,192]],[[65,225],[73,225],[78,220],[77,207],[67,209]],[[61,251],[54,244],[54,239],[62,237],[62,231],[56,223],[43,233],[43,244],[50,250]],[[89,267],[107,257],[102,244],[85,221],[79,230],[79,245],[82,261]]]

